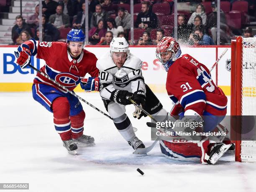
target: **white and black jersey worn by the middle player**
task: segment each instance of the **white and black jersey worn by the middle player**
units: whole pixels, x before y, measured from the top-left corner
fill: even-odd
[[[96,67],[100,70],[100,96],[110,100],[114,90],[127,90],[146,92],[144,78],[142,76],[142,61],[130,53],[120,69],[114,64],[110,52],[97,60]]]

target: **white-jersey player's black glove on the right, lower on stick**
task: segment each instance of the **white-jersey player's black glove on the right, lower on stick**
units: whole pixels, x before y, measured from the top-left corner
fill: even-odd
[[[136,91],[133,93],[133,100],[143,108],[146,103],[146,95],[143,91]],[[147,115],[136,107],[135,111],[133,112],[133,117],[140,119],[143,116],[146,117]]]

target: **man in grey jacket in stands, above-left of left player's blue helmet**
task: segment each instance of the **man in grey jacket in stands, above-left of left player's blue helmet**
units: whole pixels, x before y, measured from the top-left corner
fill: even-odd
[[[50,16],[49,23],[53,24],[57,29],[70,27],[69,15],[62,13],[61,5],[58,5],[56,13]]]

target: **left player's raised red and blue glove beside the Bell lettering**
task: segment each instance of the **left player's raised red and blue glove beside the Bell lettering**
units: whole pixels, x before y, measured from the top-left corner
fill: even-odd
[[[21,44],[18,46],[18,51],[14,51],[17,59],[17,64],[20,65],[20,68],[26,68],[28,64],[31,63],[31,51],[29,50],[29,46],[26,44]]]

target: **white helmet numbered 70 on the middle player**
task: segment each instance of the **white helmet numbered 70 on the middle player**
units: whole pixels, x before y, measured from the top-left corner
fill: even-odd
[[[114,52],[127,52],[127,58],[130,55],[129,44],[124,37],[114,37],[110,43],[110,55]]]

